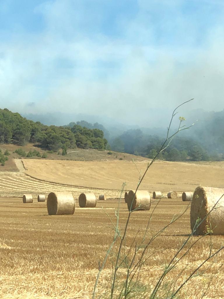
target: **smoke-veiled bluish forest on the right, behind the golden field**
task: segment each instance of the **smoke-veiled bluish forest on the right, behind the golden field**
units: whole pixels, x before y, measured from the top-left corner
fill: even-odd
[[[70,123],[69,126],[73,124]],[[160,134],[153,135],[150,134],[152,129],[129,129],[111,139],[110,132],[98,123],[79,121],[76,124],[88,128],[100,127],[107,133],[113,151],[147,158],[153,158],[157,154],[166,133],[165,130],[161,130]],[[199,126],[177,135],[168,149],[159,155],[159,158],[167,161],[222,161],[224,159],[224,131],[221,131],[220,127],[224,128],[224,117],[220,118],[219,115],[218,121],[213,118],[208,121],[207,118],[206,123],[201,122]]]

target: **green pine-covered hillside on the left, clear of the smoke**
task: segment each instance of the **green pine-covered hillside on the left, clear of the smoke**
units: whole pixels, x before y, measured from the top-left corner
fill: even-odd
[[[0,143],[24,145],[38,143],[43,149],[57,151],[68,148],[105,149],[107,139],[100,129],[73,126],[46,126],[23,118],[19,113],[0,109]]]

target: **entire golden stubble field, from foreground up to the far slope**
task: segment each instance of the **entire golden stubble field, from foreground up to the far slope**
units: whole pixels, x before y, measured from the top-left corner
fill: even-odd
[[[74,167],[73,164],[70,165],[70,170],[65,168],[66,165],[59,164],[58,168],[53,171],[53,167],[57,165],[56,161],[49,163],[44,161],[45,169],[40,162],[37,164],[37,161],[24,160],[24,165],[28,169],[24,173],[1,173],[0,176],[0,298],[91,298],[99,263],[102,262],[113,240],[113,225],[109,218],[113,222],[116,221],[115,211],[118,200],[100,201],[97,208],[85,209],[78,207],[78,194],[83,190],[93,190],[91,188],[95,186],[104,188],[103,190],[95,189],[97,194],[102,191],[111,192],[111,198],[115,198],[117,194],[119,195],[118,189],[122,184],[122,178],[128,177],[128,188],[131,188],[139,174],[136,173],[136,168],[131,162],[129,162],[130,165],[127,164],[129,166],[125,166],[125,163],[121,161],[120,164],[119,162],[114,163],[113,173],[107,173],[105,168],[101,172],[101,176],[94,178],[93,171],[99,174],[99,168],[92,169],[91,164],[82,164],[83,180],[81,180],[79,167]],[[51,166],[50,163],[53,162],[55,164]],[[28,163],[33,164],[28,165]],[[158,189],[159,186],[161,186],[160,190],[166,192],[171,189],[177,191],[194,190],[192,188],[196,184],[199,185],[198,181],[201,182],[201,185],[222,187],[223,164],[174,163],[172,165],[173,171],[170,171],[169,176],[167,176],[167,167],[164,168],[166,169],[165,172],[162,168],[164,162],[157,163],[158,169],[161,165],[159,177],[157,173],[159,170],[155,168],[154,172],[149,173],[144,185],[145,188],[149,186],[150,189],[147,189],[150,191],[156,187]],[[34,166],[32,168],[32,165],[36,165],[36,173],[34,173],[35,168]],[[141,164],[139,165],[141,166]],[[193,165],[197,165],[195,173],[192,172],[194,170],[191,168]],[[115,173],[120,173],[120,167],[123,177],[116,177]],[[183,167],[190,168],[191,173],[182,171]],[[90,169],[92,169],[92,180]],[[133,174],[130,173],[130,169],[133,170]],[[70,179],[68,178],[69,171]],[[176,178],[178,172],[179,179]],[[26,173],[35,176],[36,179],[27,176]],[[85,178],[85,174],[88,174],[87,178]],[[17,177],[15,178],[15,176]],[[154,176],[155,178],[153,178]],[[46,181],[48,179],[51,183],[41,181],[38,178]],[[198,181],[194,182],[195,178]],[[58,184],[57,180],[59,180]],[[133,180],[133,185],[131,180]],[[112,184],[109,185],[108,181],[111,181]],[[172,181],[174,182],[173,185]],[[59,184],[60,182],[61,184]],[[81,184],[82,182],[84,183]],[[156,182],[161,185],[156,185]],[[73,183],[73,187],[70,186],[71,183]],[[80,185],[83,188],[78,187]],[[114,187],[115,190],[112,190],[111,187]],[[74,215],[48,216],[46,202],[37,203],[36,198],[34,198],[33,204],[24,205],[22,199],[18,198],[25,191],[30,191],[36,196],[36,194],[41,193],[41,190],[44,190],[44,193],[54,190],[72,191],[76,198]],[[137,242],[140,242],[155,204],[152,204],[150,211],[132,213],[125,242],[126,250],[130,248],[129,246],[137,231],[139,231]],[[181,199],[162,199],[152,216],[145,242],[159,229],[167,225],[174,214],[183,212],[188,204],[188,202],[182,202]],[[127,206],[122,200],[121,231],[124,229],[127,216]],[[159,275],[165,269],[165,265],[190,233],[188,208],[179,220],[171,224],[152,242],[146,253],[146,257],[149,258],[139,277],[139,284],[146,287],[145,295],[136,298],[149,298],[150,290],[155,286]],[[185,251],[195,242],[196,238],[191,238],[184,249]],[[174,288],[180,285],[183,279],[208,256],[211,241],[213,243],[212,250],[215,250],[223,244],[224,237],[213,236],[210,239],[207,236],[201,239],[197,245],[190,249],[179,266],[168,274],[163,287],[169,286],[169,283],[175,280],[177,281]],[[110,278],[117,246],[118,243],[113,248],[99,280],[98,292],[101,298],[108,298],[110,292]],[[221,251],[215,259],[204,266],[202,269],[205,270],[204,274],[200,273],[202,275],[194,277],[188,282],[182,289],[179,298],[224,298],[223,258],[224,253]],[[182,274],[178,277],[182,270]],[[124,271],[124,269],[119,271],[120,280],[124,280]]]

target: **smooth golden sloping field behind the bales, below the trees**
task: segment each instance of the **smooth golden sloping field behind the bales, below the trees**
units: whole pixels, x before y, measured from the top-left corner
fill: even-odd
[[[56,183],[92,188],[135,189],[139,173],[131,161],[23,160],[27,174]],[[136,162],[145,170],[148,161]],[[183,163],[156,161],[150,167],[141,189],[162,192],[193,191],[199,185],[223,188],[224,162]]]

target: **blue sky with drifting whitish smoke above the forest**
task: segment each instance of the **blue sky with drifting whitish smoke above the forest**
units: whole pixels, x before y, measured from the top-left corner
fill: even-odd
[[[223,110],[223,21],[222,0],[1,0],[0,107],[145,126],[192,97]]]

